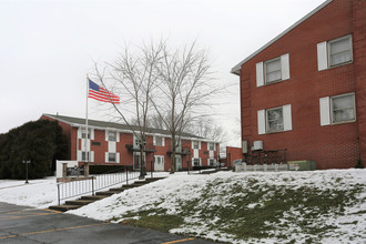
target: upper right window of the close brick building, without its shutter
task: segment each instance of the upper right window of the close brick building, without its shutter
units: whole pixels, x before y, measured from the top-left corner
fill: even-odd
[[[335,67],[352,61],[350,35],[339,38],[328,43],[329,65]]]

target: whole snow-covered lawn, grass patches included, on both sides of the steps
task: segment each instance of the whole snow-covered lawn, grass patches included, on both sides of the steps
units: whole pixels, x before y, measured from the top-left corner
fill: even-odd
[[[55,197],[54,179],[0,181],[3,202],[45,207]],[[169,220],[171,233],[231,243],[366,243],[366,170],[176,173],[68,213],[142,226]]]

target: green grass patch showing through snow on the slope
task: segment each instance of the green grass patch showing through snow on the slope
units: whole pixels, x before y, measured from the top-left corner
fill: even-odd
[[[314,243],[318,241],[317,236],[334,230],[334,226],[318,222],[319,217],[342,215],[346,206],[365,201],[357,199],[365,191],[364,185],[355,184],[352,190],[294,189],[286,187],[288,181],[294,180],[284,179],[284,184],[276,186],[260,184],[258,180],[251,177],[246,183],[218,179],[205,185],[201,197],[177,201],[181,212],[175,215],[167,214],[156,203],[124,214],[122,223],[163,232],[179,227],[215,231],[217,235],[228,235],[234,240],[275,237],[284,243],[295,242],[287,240],[286,233],[296,226],[293,232],[307,236],[306,243]],[[333,183],[340,181],[335,179]],[[210,204],[212,202],[221,204]],[[202,235],[200,231],[184,234]]]

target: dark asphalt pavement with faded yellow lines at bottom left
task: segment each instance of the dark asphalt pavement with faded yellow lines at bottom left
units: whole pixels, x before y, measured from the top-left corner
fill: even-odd
[[[0,243],[212,244],[214,242],[0,202]]]

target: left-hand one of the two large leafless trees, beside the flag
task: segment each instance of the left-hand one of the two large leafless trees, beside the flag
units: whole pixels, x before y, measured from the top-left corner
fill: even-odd
[[[130,126],[140,145],[140,177],[144,177],[146,171],[144,152],[146,129],[149,126],[148,119],[152,111],[152,95],[159,81],[155,63],[161,59],[162,51],[162,42],[159,44],[144,44],[136,52],[125,47],[114,63],[106,64],[110,74],[109,79],[105,79],[105,69],[101,73],[98,65],[95,65],[96,77],[103,83],[104,88],[106,89],[105,80],[110,81],[110,89],[108,90],[113,91],[113,93],[119,94],[123,99],[121,106],[113,104],[113,108],[120,115],[120,119]],[[133,119],[129,120],[128,114],[131,113],[133,114]]]

